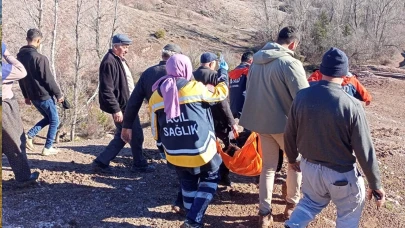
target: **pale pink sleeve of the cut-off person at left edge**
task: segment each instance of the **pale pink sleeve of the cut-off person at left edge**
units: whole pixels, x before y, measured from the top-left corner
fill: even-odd
[[[15,57],[8,55],[3,56],[5,63],[2,65],[3,83],[18,81],[27,76],[27,71],[20,61]]]

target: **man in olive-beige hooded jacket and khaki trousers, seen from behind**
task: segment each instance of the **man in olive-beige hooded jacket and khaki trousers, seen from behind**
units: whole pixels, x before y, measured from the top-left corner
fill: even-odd
[[[297,92],[308,87],[302,63],[293,56],[299,42],[294,27],[283,28],[277,42],[267,43],[253,56],[246,85],[246,100],[240,125],[259,133],[263,169],[259,186],[259,227],[272,223],[271,199],[279,148],[284,150],[283,133]],[[288,166],[286,218],[300,199],[302,175]]]

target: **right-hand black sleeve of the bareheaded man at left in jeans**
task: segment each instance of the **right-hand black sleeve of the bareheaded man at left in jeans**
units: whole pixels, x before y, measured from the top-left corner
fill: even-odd
[[[41,75],[44,80],[44,87],[50,95],[54,95],[56,99],[61,98],[62,92],[58,84],[56,84],[55,77],[52,75],[51,69],[49,68],[48,58],[45,56],[38,59],[38,71],[39,75]]]

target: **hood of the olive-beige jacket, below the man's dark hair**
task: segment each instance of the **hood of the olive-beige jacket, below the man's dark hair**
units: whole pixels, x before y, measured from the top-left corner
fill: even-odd
[[[253,63],[267,64],[281,57],[294,57],[294,52],[280,44],[269,42],[260,51],[253,55]]]

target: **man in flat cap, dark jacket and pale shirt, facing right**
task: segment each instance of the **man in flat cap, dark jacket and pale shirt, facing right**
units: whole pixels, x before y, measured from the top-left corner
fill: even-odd
[[[94,160],[95,171],[111,172],[109,165],[117,154],[124,148],[126,142],[121,139],[122,121],[127,106],[129,95],[134,89],[134,80],[131,71],[125,61],[129,45],[132,40],[124,34],[117,34],[112,38],[112,49],[110,49],[101,61],[99,68],[99,103],[100,109],[110,113],[114,119],[116,132],[113,140],[104,151]],[[134,132],[142,132],[139,117],[133,122],[131,128]],[[131,171],[153,172],[154,167],[148,165],[143,152],[143,134],[137,134],[129,142],[131,145],[133,165]]]

